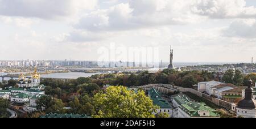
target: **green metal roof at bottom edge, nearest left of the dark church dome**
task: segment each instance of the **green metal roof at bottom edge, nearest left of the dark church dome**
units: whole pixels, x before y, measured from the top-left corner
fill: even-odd
[[[219,117],[216,110],[207,106],[204,102],[188,102],[187,104],[181,104],[179,107],[185,113],[191,117]],[[199,111],[208,111],[209,116],[200,116]]]

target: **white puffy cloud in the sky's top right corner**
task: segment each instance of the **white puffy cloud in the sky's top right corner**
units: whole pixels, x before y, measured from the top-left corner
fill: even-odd
[[[196,0],[191,10],[210,18],[256,18],[256,8],[245,0]]]

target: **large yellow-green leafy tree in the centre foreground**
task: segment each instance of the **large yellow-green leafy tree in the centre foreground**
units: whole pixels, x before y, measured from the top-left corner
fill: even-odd
[[[144,91],[127,90],[126,87],[109,87],[106,93],[94,96],[99,118],[154,118],[158,109]]]

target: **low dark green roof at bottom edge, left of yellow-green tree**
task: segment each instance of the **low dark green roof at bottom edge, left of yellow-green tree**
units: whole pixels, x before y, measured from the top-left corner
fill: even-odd
[[[90,118],[85,114],[46,114],[40,118]]]

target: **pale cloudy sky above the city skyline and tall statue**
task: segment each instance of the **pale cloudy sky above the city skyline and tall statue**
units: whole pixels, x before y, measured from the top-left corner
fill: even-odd
[[[110,43],[174,62],[256,59],[255,0],[0,0],[0,60],[93,60]]]

